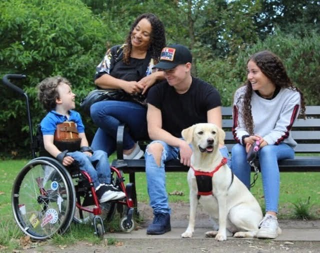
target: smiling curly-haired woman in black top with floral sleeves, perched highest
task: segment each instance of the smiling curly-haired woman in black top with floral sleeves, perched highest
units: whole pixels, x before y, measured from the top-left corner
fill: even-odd
[[[96,67],[94,83],[98,88],[122,89],[132,101],[107,100],[90,108],[93,122],[99,127],[91,146],[110,155],[116,146],[116,130],[125,123],[123,157],[138,159],[143,155],[136,140],[147,136],[146,107],[148,88],[164,79],[162,71],[152,70],[165,46],[164,26],[152,13],[139,15],[133,22],[125,44],[107,50]]]

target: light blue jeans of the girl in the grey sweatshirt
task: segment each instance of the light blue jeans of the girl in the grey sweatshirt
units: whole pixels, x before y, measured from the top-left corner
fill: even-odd
[[[250,165],[246,161],[245,147],[235,144],[231,150],[231,169],[233,173],[250,188]],[[280,173],[277,160],[293,159],[294,150],[285,143],[266,145],[258,151],[265,211],[278,212]]]

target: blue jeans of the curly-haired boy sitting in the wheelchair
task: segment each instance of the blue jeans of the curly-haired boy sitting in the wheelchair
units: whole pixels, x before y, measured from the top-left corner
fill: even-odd
[[[94,188],[99,186],[100,183],[110,183],[111,172],[106,152],[96,150],[93,152],[92,156],[88,156],[80,151],[68,152],[66,154],[73,157],[73,159],[78,162],[80,170],[89,174]]]

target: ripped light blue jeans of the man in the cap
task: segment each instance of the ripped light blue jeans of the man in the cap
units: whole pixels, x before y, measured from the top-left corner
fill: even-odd
[[[146,148],[144,153],[145,157],[145,173],[147,190],[150,198],[150,205],[153,209],[153,214],[156,213],[171,213],[168,204],[168,196],[165,189],[165,170],[164,163],[168,160],[176,159],[178,156],[179,148],[168,145],[167,143],[155,140],[151,143],[159,142],[163,146],[160,166],[158,166]],[[150,144],[151,144],[150,143]],[[228,157],[228,150],[224,146],[220,148],[223,157]]]

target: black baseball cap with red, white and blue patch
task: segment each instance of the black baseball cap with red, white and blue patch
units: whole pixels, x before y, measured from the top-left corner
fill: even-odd
[[[170,69],[178,64],[192,62],[192,54],[184,45],[171,44],[164,47],[161,51],[160,61],[152,68]]]

